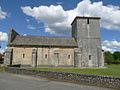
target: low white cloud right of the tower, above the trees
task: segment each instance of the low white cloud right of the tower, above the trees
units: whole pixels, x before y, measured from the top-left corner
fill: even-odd
[[[102,49],[105,50],[105,51],[110,51],[110,52],[120,51],[120,41],[105,40],[105,41],[102,42]]]

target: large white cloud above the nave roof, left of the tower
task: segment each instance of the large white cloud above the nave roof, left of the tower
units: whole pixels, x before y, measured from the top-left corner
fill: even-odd
[[[28,16],[34,17],[45,24],[45,32],[52,34],[66,33],[70,29],[70,23],[67,21],[67,13],[62,6],[39,6],[33,9],[29,6],[21,7]]]

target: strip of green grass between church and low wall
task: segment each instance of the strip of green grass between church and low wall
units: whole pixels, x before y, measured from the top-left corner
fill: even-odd
[[[120,77],[120,64],[119,65],[107,65],[107,68],[32,68],[32,70],[47,70],[58,72],[72,72],[80,74],[94,74],[102,76],[114,76]]]

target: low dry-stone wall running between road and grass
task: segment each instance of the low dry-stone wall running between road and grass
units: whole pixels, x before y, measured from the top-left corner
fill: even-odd
[[[120,89],[120,78],[114,78],[114,77],[84,75],[84,74],[65,73],[65,72],[41,71],[41,70],[27,70],[27,69],[14,68],[14,67],[5,67],[5,71],[15,74],[45,77],[52,80],[102,86],[102,87],[114,88],[118,90]]]

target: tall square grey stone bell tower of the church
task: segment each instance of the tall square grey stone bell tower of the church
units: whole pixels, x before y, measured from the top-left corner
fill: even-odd
[[[99,17],[76,17],[72,22],[72,37],[78,44],[75,50],[76,67],[104,66],[99,21]]]

